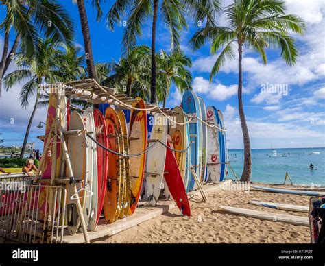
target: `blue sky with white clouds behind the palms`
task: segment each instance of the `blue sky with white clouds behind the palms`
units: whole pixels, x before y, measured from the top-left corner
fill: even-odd
[[[75,21],[75,45],[82,47],[83,39],[80,28],[77,5],[72,1],[60,0]],[[90,1],[88,1],[90,2]],[[300,58],[296,66],[290,67],[280,58],[280,51],[267,51],[268,64],[263,66],[256,53],[244,51],[243,102],[248,121],[252,148],[274,147],[325,147],[325,8],[322,0],[287,0],[287,12],[301,16],[307,23],[304,36],[295,36]],[[224,1],[224,5],[231,0]],[[104,14],[110,4],[104,6]],[[1,9],[0,9],[1,10]],[[88,23],[91,29],[91,40],[95,62],[119,60],[121,55],[121,36],[123,27],[117,25],[115,32],[106,28],[104,19],[95,21],[96,12],[90,3],[86,4]],[[3,11],[0,11],[0,20]],[[139,44],[151,43],[151,19],[143,23],[143,38]],[[224,18],[219,19],[221,25],[226,25]],[[224,112],[227,138],[230,149],[241,149],[241,125],[237,111],[237,61],[226,62],[220,73],[209,83],[210,69],[215,62],[215,55],[210,54],[209,44],[198,51],[189,47],[189,39],[198,29],[197,25],[189,23],[188,30],[181,33],[181,47],[191,57],[193,67],[194,91],[204,98],[206,106],[214,105]],[[0,51],[3,45],[3,33],[0,36]],[[12,39],[10,40],[13,41]],[[158,21],[156,49],[169,49],[169,32]],[[220,52],[220,51],[219,51]],[[16,66],[10,66],[15,69]],[[20,84],[10,92],[3,92],[0,99],[0,136],[5,145],[21,144],[24,129],[27,126],[32,106],[23,110],[19,106]],[[276,87],[276,91],[272,88]],[[167,101],[167,106],[180,104],[182,95],[173,87]],[[32,100],[31,100],[32,103]],[[36,136],[43,130],[36,128],[39,121],[45,121],[46,110],[38,110],[31,130],[29,141],[36,141],[36,146],[43,146]],[[14,123],[12,122],[14,119]]]

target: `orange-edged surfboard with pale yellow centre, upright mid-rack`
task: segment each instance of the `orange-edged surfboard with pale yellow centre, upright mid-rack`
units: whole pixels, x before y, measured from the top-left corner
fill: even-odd
[[[135,108],[145,108],[142,99],[136,99],[133,104]],[[147,149],[147,112],[131,110],[129,124],[129,149],[130,154],[139,154]],[[146,154],[130,157],[131,197],[129,215],[132,215],[139,202],[143,175],[145,171]]]

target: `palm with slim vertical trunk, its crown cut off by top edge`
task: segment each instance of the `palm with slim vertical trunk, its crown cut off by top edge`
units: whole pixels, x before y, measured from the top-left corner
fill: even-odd
[[[159,7],[160,6],[160,7]],[[171,50],[180,49],[180,30],[187,27],[185,14],[197,21],[204,21],[215,25],[215,14],[219,10],[219,0],[117,0],[106,16],[108,27],[114,30],[114,24],[121,22],[121,17],[128,14],[127,27],[123,34],[122,43],[126,49],[136,45],[136,39],[142,35],[143,22],[152,16],[152,65],[150,101],[156,102],[156,26],[158,14],[162,23],[167,27],[171,36]],[[158,13],[159,8],[159,13]]]

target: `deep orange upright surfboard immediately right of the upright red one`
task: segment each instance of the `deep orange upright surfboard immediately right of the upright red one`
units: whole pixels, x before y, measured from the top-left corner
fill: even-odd
[[[112,107],[106,108],[105,123],[108,138],[108,149],[121,153],[119,146],[119,129],[117,128],[117,113]],[[120,207],[121,162],[117,154],[108,152],[107,187],[104,199],[104,215],[108,223],[119,216]]]

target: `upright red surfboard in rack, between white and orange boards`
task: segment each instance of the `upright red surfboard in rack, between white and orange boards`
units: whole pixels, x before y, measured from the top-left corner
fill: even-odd
[[[103,114],[98,109],[94,110],[95,121],[95,135],[96,141],[98,141],[104,147],[107,147],[107,132],[106,123]],[[106,192],[106,180],[107,180],[107,167],[108,167],[108,152],[97,145],[97,189],[98,189],[98,204],[97,204],[97,219],[96,224],[99,221],[101,210],[104,206],[104,197]]]

